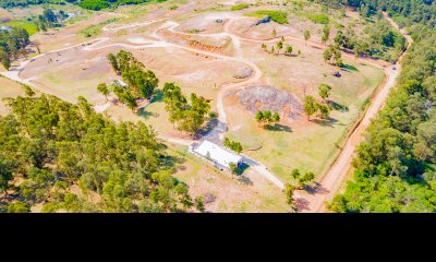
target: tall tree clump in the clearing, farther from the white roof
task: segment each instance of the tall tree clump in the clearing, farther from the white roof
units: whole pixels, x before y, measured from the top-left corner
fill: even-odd
[[[145,70],[142,62],[137,61],[131,52],[121,50],[117,55],[109,53],[108,60],[117,74],[121,75],[128,87],[114,85],[112,91],[121,103],[126,104],[132,111],[137,108],[137,98],[152,99],[159,80],[150,70]],[[106,88],[105,88],[106,87]],[[105,84],[97,87],[98,92],[108,95]]]

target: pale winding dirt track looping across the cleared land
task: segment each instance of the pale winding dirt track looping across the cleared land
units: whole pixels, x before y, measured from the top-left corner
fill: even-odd
[[[107,25],[102,28],[102,31],[105,32],[116,32],[116,31],[120,31],[120,29],[124,29],[124,28],[133,28],[133,27],[137,27],[137,26],[145,26],[145,25],[149,25],[153,23],[157,23],[157,22],[161,22],[161,21],[148,21],[148,22],[144,22],[144,23],[133,23],[133,24],[128,24],[128,25],[122,25],[122,26],[113,26],[113,24]],[[178,33],[178,34],[184,34],[184,35],[189,35],[187,33],[180,33],[174,31],[174,28],[179,26],[178,23],[173,22],[173,21],[166,21],[162,25],[160,25],[157,29],[155,29],[152,34],[152,36],[154,38],[157,38],[158,40],[146,40],[144,41],[144,45],[129,45],[129,44],[121,44],[121,43],[116,43],[116,44],[108,44],[108,45],[102,45],[104,43],[110,40],[109,37],[98,37],[96,39],[94,39],[93,41],[85,41],[75,46],[71,46],[71,47],[65,47],[65,48],[61,48],[58,50],[53,50],[50,52],[46,52],[46,53],[41,53],[36,56],[33,59],[38,59],[41,58],[44,56],[47,56],[49,53],[55,53],[55,52],[59,52],[59,51],[63,51],[63,50],[68,50],[71,48],[76,48],[76,47],[83,47],[83,50],[85,51],[94,51],[94,50],[100,50],[100,49],[105,49],[108,47],[123,47],[123,48],[129,48],[129,49],[144,49],[144,48],[158,48],[158,47],[174,47],[174,48],[180,48],[186,51],[191,51],[194,53],[201,53],[201,55],[205,55],[205,56],[209,56],[209,57],[215,57],[217,59],[223,59],[223,60],[230,60],[230,61],[237,61],[237,62],[241,62],[241,63],[245,63],[246,66],[253,68],[254,74],[251,75],[250,79],[243,81],[243,82],[239,82],[239,83],[230,83],[230,84],[225,84],[221,86],[220,91],[218,92],[218,98],[217,98],[217,108],[218,108],[218,124],[215,129],[213,129],[207,135],[204,136],[204,139],[208,139],[209,136],[217,136],[219,138],[219,140],[223,139],[223,134],[227,131],[227,118],[226,118],[226,110],[223,107],[223,97],[225,94],[232,90],[232,88],[238,88],[238,87],[242,87],[245,85],[249,85],[251,83],[255,83],[257,82],[261,78],[262,78],[262,71],[261,69],[253,62],[242,58],[242,56],[240,55],[241,52],[241,48],[240,48],[240,41],[238,39],[237,36],[232,35],[232,34],[228,34],[228,33],[220,33],[220,34],[210,34],[207,36],[222,36],[222,35],[228,35],[230,36],[234,43],[237,44],[237,57],[229,57],[229,56],[223,56],[223,55],[218,55],[218,53],[214,53],[214,52],[208,52],[208,51],[204,51],[204,50],[198,50],[198,49],[194,49],[191,47],[185,47],[185,46],[181,46],[178,44],[173,44],[173,43],[169,43],[165,39],[162,39],[157,32],[159,29],[166,28],[169,29],[173,33]],[[204,35],[206,36],[206,35]],[[49,92],[47,92],[48,90],[43,88],[41,86],[36,85],[33,82],[33,79],[23,79],[21,78],[21,71],[31,62],[32,60],[25,60],[23,61],[19,67],[14,68],[11,71],[8,72],[1,72],[1,74],[3,74],[4,76],[12,79],[14,81],[21,82],[23,84],[29,85],[35,87],[38,91],[41,92],[46,92],[46,93],[50,93],[52,95],[56,95],[64,100],[68,100],[70,103],[74,103],[74,99],[71,97],[68,97],[61,93],[58,92],[53,92],[52,90],[50,90]],[[96,110],[100,110],[104,106],[97,106],[95,107]],[[169,138],[169,136],[165,136],[165,135],[159,135],[158,139],[170,142],[170,143],[175,143],[175,144],[181,144],[181,145],[192,145],[194,143],[194,141],[192,140],[182,140],[182,139],[174,139],[174,138]],[[268,179],[270,182],[272,182],[274,184],[276,184],[277,187],[279,187],[281,190],[283,189],[283,183],[277,178],[275,177],[274,174],[269,172],[267,170],[267,168],[262,165],[261,163],[247,157],[247,156],[243,156],[244,160],[251,165],[253,167],[254,170],[256,170],[261,176],[265,177],[266,179]]]

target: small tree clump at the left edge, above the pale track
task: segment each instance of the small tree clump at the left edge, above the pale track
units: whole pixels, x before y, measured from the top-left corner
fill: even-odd
[[[20,55],[26,53],[26,46],[31,44],[28,34],[23,28],[12,27],[9,31],[0,31],[0,62],[9,70],[11,62]]]

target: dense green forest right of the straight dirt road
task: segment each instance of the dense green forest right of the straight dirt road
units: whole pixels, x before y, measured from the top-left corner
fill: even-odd
[[[356,148],[354,180],[329,204],[334,212],[436,212],[436,32],[429,3],[372,5],[401,15],[419,36],[401,61],[398,86]]]

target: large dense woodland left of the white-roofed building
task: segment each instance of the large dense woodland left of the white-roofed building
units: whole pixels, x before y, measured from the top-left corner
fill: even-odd
[[[142,122],[116,124],[27,87],[0,116],[0,212],[181,212],[203,206],[171,176],[174,162]],[[198,204],[199,203],[199,204]],[[202,207],[203,209],[203,207]]]

